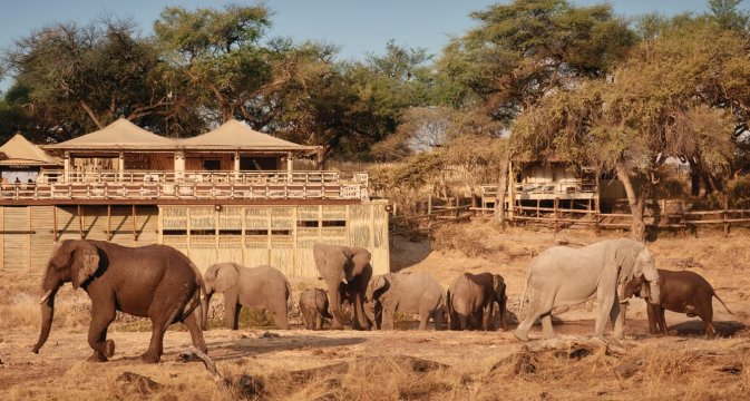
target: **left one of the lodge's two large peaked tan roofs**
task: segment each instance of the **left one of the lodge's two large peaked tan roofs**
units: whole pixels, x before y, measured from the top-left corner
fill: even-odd
[[[46,146],[49,149],[134,150],[175,149],[177,147],[176,140],[149,133],[125,118],[120,118],[97,131]]]

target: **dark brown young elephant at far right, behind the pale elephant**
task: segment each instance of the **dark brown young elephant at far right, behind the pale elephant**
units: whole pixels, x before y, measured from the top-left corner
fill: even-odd
[[[666,335],[666,321],[664,321],[664,310],[685,313],[690,317],[700,316],[705,324],[705,335],[713,339],[717,331],[713,329],[713,306],[712,296],[727,309],[723,301],[717,295],[705,278],[693,272],[672,272],[658,270],[659,287],[661,297],[659,304],[647,304],[649,331],[651,334],[659,332]],[[624,300],[631,296],[649,297],[649,285],[643,282],[643,277],[635,277],[625,284]],[[733,314],[733,313],[732,313]]]

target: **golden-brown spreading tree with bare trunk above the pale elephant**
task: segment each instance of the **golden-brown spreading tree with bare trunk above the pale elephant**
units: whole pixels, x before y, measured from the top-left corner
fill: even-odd
[[[669,157],[714,177],[729,174],[750,85],[742,43],[737,32],[705,23],[642,42],[610,79],[581,82],[525,110],[514,144],[529,155],[616,172],[633,215],[632,235],[643,241],[644,200]]]

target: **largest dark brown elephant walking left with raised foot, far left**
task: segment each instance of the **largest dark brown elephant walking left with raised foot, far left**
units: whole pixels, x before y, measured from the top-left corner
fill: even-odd
[[[49,336],[55,295],[68,282],[75,290],[86,291],[91,300],[90,362],[106,362],[115,353],[107,329],[117,311],[150,319],[150,345],[140,355],[143,362],[159,362],[164,333],[176,322],[185,323],[195,348],[207,351],[201,332],[203,281],[179,251],[166,245],[128,247],[105,241],[66,239],[52,248],[42,278],[41,331],[35,353]]]

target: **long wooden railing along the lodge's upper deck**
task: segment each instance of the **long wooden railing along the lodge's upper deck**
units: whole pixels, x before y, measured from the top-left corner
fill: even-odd
[[[368,175],[338,172],[68,172],[3,184],[0,198],[30,199],[367,199]]]

